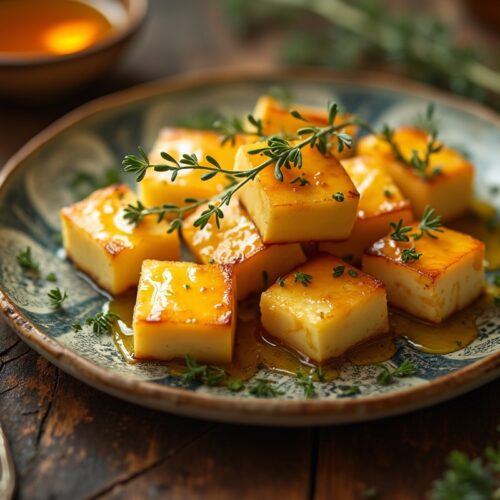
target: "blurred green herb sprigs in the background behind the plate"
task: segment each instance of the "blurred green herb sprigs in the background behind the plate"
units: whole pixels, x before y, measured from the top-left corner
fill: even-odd
[[[383,69],[500,109],[498,43],[488,44],[488,49],[472,45],[445,16],[420,9],[421,2],[404,6],[389,0],[220,2],[241,39],[281,31],[279,57],[284,64]],[[498,34],[499,0],[478,0],[479,7],[472,1],[463,3],[471,18],[486,21]]]

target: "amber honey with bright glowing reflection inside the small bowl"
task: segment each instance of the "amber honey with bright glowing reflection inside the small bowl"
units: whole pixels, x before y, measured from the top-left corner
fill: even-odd
[[[103,40],[114,29],[100,10],[76,0],[2,0],[0,19],[4,20],[0,57],[72,54]]]

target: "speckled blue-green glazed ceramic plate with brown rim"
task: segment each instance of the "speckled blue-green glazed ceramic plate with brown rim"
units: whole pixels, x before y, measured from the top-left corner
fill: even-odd
[[[68,184],[74,172],[100,175],[141,144],[151,146],[158,130],[200,108],[240,113],[272,86],[284,85],[300,101],[323,106],[334,100],[375,125],[398,124],[414,117],[429,101],[437,106],[442,137],[467,144],[477,166],[477,192],[500,185],[500,118],[478,105],[402,80],[373,74],[333,75],[317,71],[193,76],[132,89],[91,102],[60,119],[31,140],[0,174],[0,305],[12,327],[34,349],[62,370],[92,386],[153,408],[230,422],[272,425],[333,424],[393,415],[431,405],[484,384],[500,373],[500,312],[478,319],[480,335],[448,355],[427,354],[398,339],[389,364],[411,359],[416,373],[388,386],[378,385],[375,366],[343,365],[340,377],[318,383],[317,398],[288,376],[262,370],[283,391],[274,399],[248,390],[183,384],[159,363],[128,364],[112,338],[71,325],[98,312],[107,298],[82,278],[58,253],[58,212],[71,203]],[[494,202],[494,200],[492,200]],[[496,203],[500,203],[498,196]],[[497,205],[497,208],[498,205]],[[30,280],[16,264],[20,249],[31,246],[58,286],[68,290],[64,312],[47,301],[53,284]],[[361,393],[342,397],[342,386]]]

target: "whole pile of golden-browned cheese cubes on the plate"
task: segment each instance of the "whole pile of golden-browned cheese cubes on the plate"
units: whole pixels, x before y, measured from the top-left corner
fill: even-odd
[[[323,110],[290,107],[313,125],[328,124]],[[266,136],[292,136],[303,126],[269,96],[259,99],[254,115]],[[210,155],[224,169],[241,171],[262,163],[262,156],[250,154],[265,145],[259,141],[241,135],[221,144],[213,131],[168,128],[150,158],[158,162],[162,151],[177,160],[183,154]],[[394,141],[404,155],[423,154],[428,134],[401,127]],[[196,263],[179,261],[180,237],[167,233],[168,221],[126,221],[125,207],[137,199],[128,187],[96,191],[61,212],[67,255],[113,295],[137,285],[133,329],[140,359],[190,355],[200,362],[230,362],[237,303],[251,294],[261,294],[268,334],[317,363],[387,334],[388,302],[442,322],[482,293],[483,243],[446,228],[437,238],[396,241],[390,224],[402,221],[418,232],[426,206],[445,222],[466,212],[472,165],[443,147],[429,165],[439,166],[440,175],[426,179],[398,162],[375,135],[362,138],[355,153],[340,155],[333,147],[322,154],[307,147],[302,168],[284,169],[282,181],[272,167],[262,170],[224,207],[219,227],[214,221],[194,226],[206,207],[188,214],[182,238]],[[203,181],[203,173],[184,170],[173,182],[169,172],[150,170],[139,199],[147,207],[182,205],[227,186],[223,176]],[[296,182],[297,176],[303,180]],[[420,258],[402,258],[410,246]]]

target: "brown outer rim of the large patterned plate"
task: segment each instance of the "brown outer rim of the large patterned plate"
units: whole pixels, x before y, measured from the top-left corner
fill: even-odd
[[[500,115],[461,97],[401,77],[370,71],[335,72],[318,68],[214,70],[192,72],[142,84],[84,104],[56,120],[28,141],[0,170],[0,195],[9,178],[36,151],[62,131],[96,114],[178,90],[244,81],[295,79],[325,83],[352,83],[368,88],[401,90],[437,102],[458,106],[500,127]],[[500,350],[429,383],[388,394],[352,399],[282,400],[223,396],[123,377],[96,365],[45,335],[12,302],[0,287],[0,311],[10,326],[32,348],[63,371],[108,394],[172,413],[227,422],[265,425],[324,425],[365,421],[396,415],[458,396],[500,375]]]

